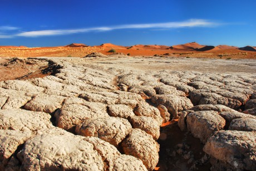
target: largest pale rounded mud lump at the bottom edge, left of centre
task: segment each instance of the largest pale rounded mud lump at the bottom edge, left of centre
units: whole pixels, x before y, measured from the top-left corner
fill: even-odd
[[[71,133],[42,133],[27,140],[17,154],[24,170],[103,170],[93,145]]]

